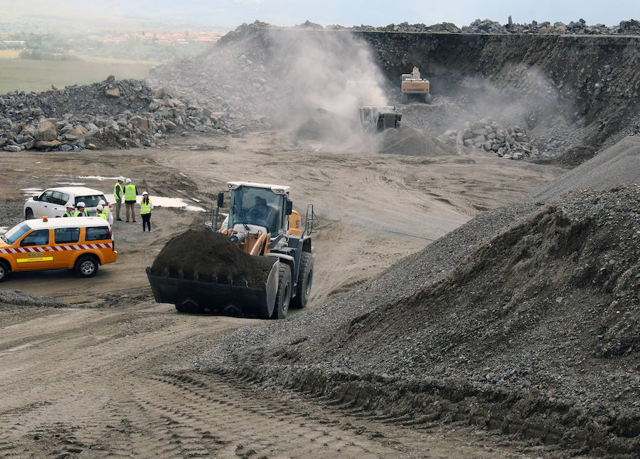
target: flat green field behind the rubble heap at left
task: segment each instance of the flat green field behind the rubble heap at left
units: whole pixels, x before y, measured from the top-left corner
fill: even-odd
[[[144,78],[152,63],[96,62],[90,60],[32,60],[0,58],[0,94],[9,91],[39,93],[68,85],[88,85],[114,75],[124,78]]]

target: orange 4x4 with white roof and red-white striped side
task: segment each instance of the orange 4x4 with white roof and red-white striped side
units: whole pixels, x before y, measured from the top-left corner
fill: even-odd
[[[118,258],[109,223],[100,217],[26,220],[0,236],[0,282],[11,271],[74,269],[83,278]]]

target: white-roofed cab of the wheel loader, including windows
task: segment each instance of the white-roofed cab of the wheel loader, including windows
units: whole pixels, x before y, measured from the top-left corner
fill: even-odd
[[[229,228],[243,223],[264,226],[272,236],[287,229],[287,216],[291,213],[289,186],[229,182],[227,187],[231,192]]]

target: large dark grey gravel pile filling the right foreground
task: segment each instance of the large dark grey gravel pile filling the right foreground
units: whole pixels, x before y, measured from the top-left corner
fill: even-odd
[[[464,419],[631,457],[639,203],[640,186],[626,186],[486,212],[319,310],[238,330],[196,366],[381,417]]]

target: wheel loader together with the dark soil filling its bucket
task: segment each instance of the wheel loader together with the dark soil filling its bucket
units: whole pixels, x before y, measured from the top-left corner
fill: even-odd
[[[274,319],[287,317],[289,305],[305,307],[314,275],[316,217],[309,204],[303,221],[289,193],[289,186],[228,182],[212,211],[210,236],[190,236],[192,243],[178,246],[173,256],[182,264],[162,258],[172,239],[146,268],[156,302],[174,304],[178,312]],[[225,194],[229,212],[218,228]]]

